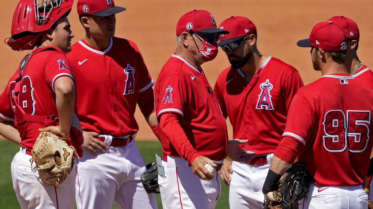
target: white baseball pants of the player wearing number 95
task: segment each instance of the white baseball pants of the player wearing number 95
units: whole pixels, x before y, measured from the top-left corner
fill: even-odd
[[[360,186],[328,187],[311,183],[299,208],[308,209],[367,209],[368,195]]]

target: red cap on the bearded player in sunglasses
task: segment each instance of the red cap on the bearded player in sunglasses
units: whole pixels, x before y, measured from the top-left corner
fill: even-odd
[[[224,20],[220,26],[220,29],[228,30],[228,35],[221,35],[218,46],[230,44],[241,39],[244,36],[248,36],[257,32],[256,27],[251,20],[247,17],[232,16]]]

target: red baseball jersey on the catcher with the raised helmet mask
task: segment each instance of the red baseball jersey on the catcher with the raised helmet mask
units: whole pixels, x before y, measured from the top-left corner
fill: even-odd
[[[19,106],[26,114],[58,117],[54,81],[63,76],[68,76],[73,80],[74,78],[65,53],[57,47],[48,48],[53,50],[38,48],[32,52],[33,56],[23,71],[18,101]],[[0,96],[0,118],[6,121],[15,121],[13,96],[18,70],[19,68],[9,79],[6,89]],[[18,124],[17,129],[22,140],[21,146],[31,151],[40,134],[38,129],[44,127],[46,126],[41,123]],[[80,145],[77,147],[75,144],[74,146],[80,153]]]

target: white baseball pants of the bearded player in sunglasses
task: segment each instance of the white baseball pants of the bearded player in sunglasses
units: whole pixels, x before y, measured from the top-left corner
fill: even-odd
[[[233,174],[229,185],[230,208],[263,208],[262,189],[272,157],[273,154],[268,154],[267,164],[264,165],[249,165],[233,161]]]

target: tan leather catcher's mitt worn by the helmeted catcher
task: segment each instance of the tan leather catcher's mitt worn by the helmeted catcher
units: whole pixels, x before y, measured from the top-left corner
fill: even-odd
[[[31,153],[31,165],[35,162],[44,183],[58,188],[66,177],[69,180],[69,173],[73,167],[73,154],[76,151],[74,147],[69,147],[63,138],[49,131],[40,132]]]

